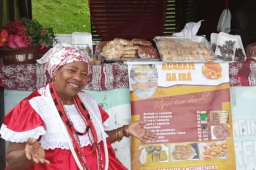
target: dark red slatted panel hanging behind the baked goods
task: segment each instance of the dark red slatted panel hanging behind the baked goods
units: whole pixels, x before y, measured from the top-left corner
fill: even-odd
[[[115,37],[152,39],[156,35],[170,32],[175,24],[173,2],[174,0],[90,0],[93,40],[108,41]]]

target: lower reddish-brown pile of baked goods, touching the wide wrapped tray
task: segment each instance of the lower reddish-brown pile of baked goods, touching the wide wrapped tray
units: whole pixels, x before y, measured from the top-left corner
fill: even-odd
[[[138,49],[140,58],[155,59],[158,57],[157,50],[152,46],[140,46]]]

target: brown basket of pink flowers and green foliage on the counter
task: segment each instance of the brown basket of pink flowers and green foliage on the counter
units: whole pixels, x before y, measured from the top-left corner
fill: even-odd
[[[0,33],[0,54],[5,65],[34,63],[57,42],[53,28],[37,20],[8,22]]]

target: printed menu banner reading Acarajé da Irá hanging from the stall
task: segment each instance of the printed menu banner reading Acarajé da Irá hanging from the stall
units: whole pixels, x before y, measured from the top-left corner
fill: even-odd
[[[132,138],[132,170],[235,170],[228,63],[128,69],[132,121],[158,136]]]

